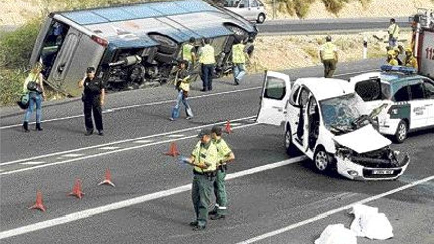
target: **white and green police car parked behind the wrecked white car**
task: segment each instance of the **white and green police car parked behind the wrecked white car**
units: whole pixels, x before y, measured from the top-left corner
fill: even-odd
[[[434,82],[408,67],[384,65],[350,79],[370,108],[378,108],[380,133],[402,143],[410,131],[434,126]]]

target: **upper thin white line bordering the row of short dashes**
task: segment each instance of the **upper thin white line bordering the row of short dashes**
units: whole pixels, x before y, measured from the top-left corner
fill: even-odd
[[[239,118],[239,119],[233,119],[233,121],[247,120],[247,119],[250,119],[252,117],[254,117],[254,116],[249,116],[249,117],[244,117],[244,118]],[[170,135],[170,134],[176,134],[176,133],[190,131],[190,130],[195,130],[195,129],[199,129],[199,128],[205,128],[205,127],[210,127],[210,126],[214,126],[214,125],[221,125],[223,123],[224,123],[224,121],[221,121],[221,122],[217,122],[217,123],[213,123],[213,124],[201,125],[201,126],[196,126],[196,127],[191,127],[191,128],[186,128],[186,129],[171,131],[171,132],[164,132],[164,133],[159,133],[159,134],[154,134],[154,135],[148,135],[148,136],[144,136],[144,137],[138,137],[138,138],[132,138],[132,139],[126,139],[126,140],[119,140],[119,141],[113,141],[113,142],[109,142],[109,143],[106,143],[106,144],[99,144],[99,145],[94,145],[94,146],[82,147],[82,148],[72,149],[72,150],[63,151],[63,152],[55,152],[55,153],[40,155],[40,156],[36,156],[36,157],[31,157],[31,158],[18,159],[18,160],[13,160],[13,161],[9,161],[9,162],[0,163],[0,166],[14,164],[14,163],[19,163],[19,162],[24,162],[24,161],[29,161],[29,160],[35,160],[35,159],[39,159],[39,158],[58,156],[58,155],[62,155],[62,154],[65,154],[65,153],[72,153],[72,152],[77,152],[77,151],[83,151],[83,150],[98,148],[98,147],[102,147],[102,146],[110,146],[110,145],[115,145],[115,144],[120,144],[120,143],[124,143],[124,142],[130,142],[130,141],[140,140],[140,139],[147,139],[147,138],[152,138],[152,137],[166,136],[166,135]]]

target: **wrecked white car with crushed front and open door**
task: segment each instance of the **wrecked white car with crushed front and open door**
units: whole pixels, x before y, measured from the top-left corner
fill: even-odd
[[[393,151],[348,81],[303,78],[266,72],[257,122],[285,128],[285,147],[298,148],[321,172],[337,170],[355,180],[396,179],[409,163],[408,155]]]

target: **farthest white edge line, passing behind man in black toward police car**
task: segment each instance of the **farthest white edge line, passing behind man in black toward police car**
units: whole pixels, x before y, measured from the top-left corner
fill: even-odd
[[[340,76],[351,75],[351,74],[360,74],[360,73],[377,71],[377,70],[378,69],[363,70],[363,71],[357,71],[357,72],[348,72],[348,73],[343,73],[343,74],[336,74],[336,75],[334,75],[334,77],[340,77]],[[198,98],[205,98],[205,97],[213,97],[213,96],[218,96],[218,95],[223,95],[223,94],[231,94],[231,93],[244,92],[244,91],[250,91],[250,90],[255,90],[255,89],[262,89],[262,88],[263,88],[262,86],[255,86],[255,87],[249,87],[249,88],[244,88],[244,89],[237,89],[237,90],[226,91],[226,92],[217,92],[217,93],[211,93],[211,94],[206,94],[206,95],[194,96],[194,97],[189,97],[188,99],[191,100],[191,99],[198,99]],[[158,101],[158,102],[152,102],[152,103],[147,103],[147,104],[139,104],[139,105],[131,105],[131,106],[111,108],[111,109],[107,109],[106,111],[107,112],[115,112],[115,111],[119,111],[119,110],[130,109],[130,108],[145,107],[145,106],[159,105],[159,104],[167,104],[167,103],[173,103],[173,102],[175,102],[175,100],[165,100],[165,101]],[[73,119],[73,118],[79,118],[79,117],[84,117],[84,115],[80,114],[80,115],[66,116],[66,117],[60,117],[60,118],[54,118],[54,119],[47,119],[47,120],[42,120],[42,123],[53,122],[53,121],[60,121],[60,120],[67,120],[67,119]],[[29,124],[35,124],[35,122],[31,122]],[[2,127],[0,127],[0,129],[8,129],[8,128],[13,128],[13,127],[19,127],[21,125],[22,124],[2,126]]]

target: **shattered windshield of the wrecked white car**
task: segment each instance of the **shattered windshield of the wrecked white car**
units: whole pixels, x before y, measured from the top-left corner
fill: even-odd
[[[366,109],[363,100],[356,94],[320,101],[323,123],[333,134],[344,134],[357,129],[356,121]]]

